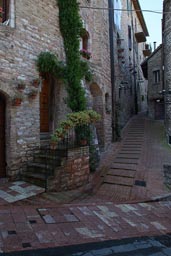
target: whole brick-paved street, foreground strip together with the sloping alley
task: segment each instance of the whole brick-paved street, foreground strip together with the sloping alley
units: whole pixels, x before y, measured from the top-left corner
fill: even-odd
[[[170,193],[163,178],[163,164],[171,164],[171,149],[164,143],[163,131],[162,122],[134,117],[106,157],[108,168],[95,194],[75,191],[13,203],[9,197],[1,199],[0,253],[171,233]],[[31,193],[27,184],[23,186]],[[16,199],[18,187],[15,193],[9,189],[6,193]],[[156,197],[168,200],[155,201]]]

